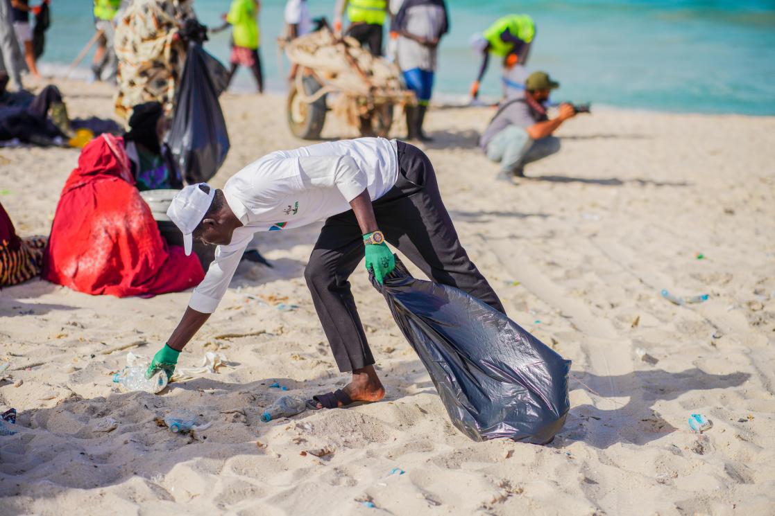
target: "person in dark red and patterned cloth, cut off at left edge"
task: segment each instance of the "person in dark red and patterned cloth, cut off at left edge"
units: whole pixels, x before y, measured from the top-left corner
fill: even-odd
[[[0,204],[0,289],[40,275],[46,237],[19,238]]]

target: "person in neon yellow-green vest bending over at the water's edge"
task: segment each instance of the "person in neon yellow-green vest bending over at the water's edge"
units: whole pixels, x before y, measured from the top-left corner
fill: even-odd
[[[504,70],[517,64],[525,65],[535,38],[536,22],[533,22],[529,15],[503,16],[481,34],[471,36],[471,46],[477,53],[482,54],[477,80],[471,84],[471,100],[475,100],[479,95],[479,84],[490,63],[490,54],[503,59]]]

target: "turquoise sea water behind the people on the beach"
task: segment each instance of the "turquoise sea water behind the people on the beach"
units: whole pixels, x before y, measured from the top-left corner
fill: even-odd
[[[308,0],[313,16],[331,18],[334,0]],[[33,0],[33,5],[36,0]],[[284,89],[275,40],[284,0],[263,0],[260,17],[264,73],[271,90]],[[767,0],[447,0],[450,34],[441,44],[437,97],[468,91],[479,59],[470,35],[498,16],[525,12],[536,19],[529,70],[560,80],[556,100],[592,101],[622,108],[701,113],[775,114],[775,1]],[[199,19],[219,25],[229,0],[195,0]],[[91,2],[52,0],[53,25],[43,63],[70,63],[94,32]],[[226,60],[229,35],[207,49]],[[84,64],[84,66],[86,66]],[[246,70],[236,87],[250,88]],[[500,94],[498,63],[481,93]]]

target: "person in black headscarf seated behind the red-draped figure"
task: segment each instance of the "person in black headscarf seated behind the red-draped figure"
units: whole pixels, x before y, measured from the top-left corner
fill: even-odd
[[[164,144],[168,126],[159,102],[146,102],[132,110],[129,131],[124,133],[124,149],[137,190],[180,190],[183,187],[180,170]]]

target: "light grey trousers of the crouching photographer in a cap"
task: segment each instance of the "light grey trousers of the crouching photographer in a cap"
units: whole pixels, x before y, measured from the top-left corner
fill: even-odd
[[[560,150],[560,138],[547,136],[533,140],[525,129],[510,125],[487,144],[487,158],[501,162],[501,170],[517,172],[529,162],[546,158]]]

